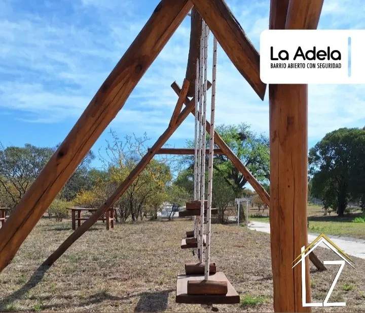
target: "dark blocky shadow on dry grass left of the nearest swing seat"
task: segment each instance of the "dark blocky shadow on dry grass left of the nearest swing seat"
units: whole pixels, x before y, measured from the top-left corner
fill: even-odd
[[[166,310],[168,295],[172,291],[174,291],[174,289],[141,293],[134,311],[157,312]]]

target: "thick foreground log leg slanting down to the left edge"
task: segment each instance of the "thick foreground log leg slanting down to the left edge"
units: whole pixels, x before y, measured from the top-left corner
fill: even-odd
[[[0,271],[42,217],[137,82],[192,8],[189,0],[162,0],[91,100],[66,139],[0,229]]]

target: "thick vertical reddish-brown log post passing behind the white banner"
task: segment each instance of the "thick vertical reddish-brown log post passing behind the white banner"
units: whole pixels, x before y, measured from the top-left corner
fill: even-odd
[[[321,0],[271,0],[271,29],[315,29]],[[302,306],[301,267],[291,262],[308,244],[308,93],[305,84],[269,86],[270,228],[274,310],[310,311]],[[310,301],[306,260],[306,295]]]

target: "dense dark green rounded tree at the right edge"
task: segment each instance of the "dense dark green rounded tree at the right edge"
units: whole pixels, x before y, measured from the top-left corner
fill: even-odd
[[[339,216],[351,198],[365,194],[365,131],[340,128],[327,133],[309,151],[311,194],[323,200]]]

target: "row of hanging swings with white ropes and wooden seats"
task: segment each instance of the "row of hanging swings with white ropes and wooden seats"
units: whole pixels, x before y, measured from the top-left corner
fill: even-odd
[[[200,38],[200,58],[197,60],[195,81],[195,147],[194,147],[194,200],[187,202],[185,212],[194,211],[193,235],[186,238],[186,242],[196,243],[198,247],[198,263],[185,264],[185,274],[177,275],[176,302],[195,304],[231,304],[239,303],[240,298],[234,287],[223,272],[216,272],[215,263],[210,263],[211,243],[211,214],[212,209],[212,183],[213,183],[213,154],[214,154],[214,117],[216,93],[216,63],[217,40],[213,38],[213,65],[212,65],[212,91],[210,106],[210,132],[209,132],[209,161],[208,161],[208,187],[205,200],[205,145],[206,145],[206,92],[207,92],[207,54],[208,54],[209,29],[202,22]],[[197,101],[199,100],[199,110]],[[199,211],[199,214],[197,214]],[[184,212],[184,211],[183,211]],[[193,214],[192,214],[193,215]],[[179,214],[179,216],[181,216]],[[187,216],[187,215],[185,215]],[[206,216],[206,230],[204,235],[204,216]],[[188,232],[187,232],[188,235]],[[203,249],[205,246],[205,253]]]

